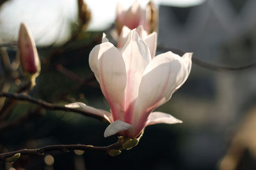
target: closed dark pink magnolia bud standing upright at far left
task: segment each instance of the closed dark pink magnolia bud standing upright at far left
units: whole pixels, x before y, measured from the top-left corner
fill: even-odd
[[[22,71],[29,78],[38,76],[40,72],[40,60],[36,50],[35,40],[28,27],[20,24],[19,31],[19,53]]]

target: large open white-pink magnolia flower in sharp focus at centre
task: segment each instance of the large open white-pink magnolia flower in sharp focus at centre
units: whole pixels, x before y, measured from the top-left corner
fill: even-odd
[[[110,112],[83,103],[66,105],[106,118],[111,124],[104,132],[105,137],[118,133],[136,138],[148,125],[182,122],[169,114],[152,111],[166,103],[186,81],[192,53],[180,57],[166,52],[154,57],[150,53],[154,50],[147,44],[154,42],[147,43],[140,38],[137,29],[128,32],[122,48],[109,43],[104,34],[102,43],[90,52],[89,64],[110,105]]]

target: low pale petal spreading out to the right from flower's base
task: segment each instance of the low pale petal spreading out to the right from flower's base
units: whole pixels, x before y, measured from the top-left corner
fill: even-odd
[[[173,117],[172,115],[154,111],[148,116],[146,126],[154,124],[181,124],[182,121]]]

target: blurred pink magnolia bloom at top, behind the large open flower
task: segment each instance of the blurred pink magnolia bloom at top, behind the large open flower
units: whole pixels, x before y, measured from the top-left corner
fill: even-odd
[[[122,31],[122,27],[126,25],[129,29],[134,29],[139,25],[151,33],[157,29],[158,10],[152,1],[142,9],[138,1],[134,1],[129,10],[125,11],[123,6],[118,3],[116,10],[116,29],[118,34]]]

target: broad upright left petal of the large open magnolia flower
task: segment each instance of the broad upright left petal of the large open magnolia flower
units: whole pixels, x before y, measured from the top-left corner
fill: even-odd
[[[124,120],[126,71],[121,53],[111,43],[102,43],[90,52],[89,64],[110,105],[113,119]]]

